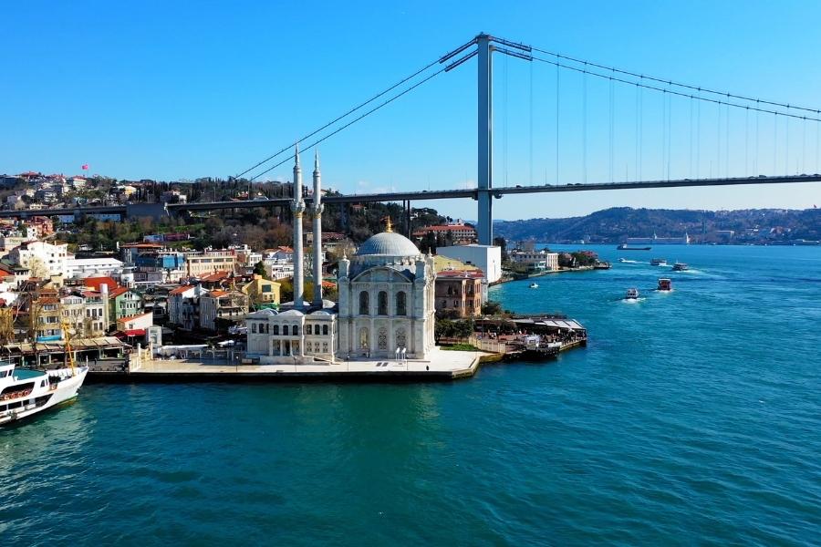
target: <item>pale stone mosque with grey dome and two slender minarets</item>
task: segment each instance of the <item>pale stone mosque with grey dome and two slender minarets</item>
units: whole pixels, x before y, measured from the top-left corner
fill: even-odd
[[[321,181],[318,154],[314,158],[314,241],[322,241]],[[371,236],[356,255],[344,256],[338,267],[339,302],[322,298],[314,283],[313,299],[303,294],[302,170],[299,150],[294,165],[294,302],[282,311],[261,310],[247,315],[249,358],[263,365],[333,363],[349,359],[426,359],[433,349],[433,257],[393,232]],[[314,279],[322,279],[321,249],[314,246]]]

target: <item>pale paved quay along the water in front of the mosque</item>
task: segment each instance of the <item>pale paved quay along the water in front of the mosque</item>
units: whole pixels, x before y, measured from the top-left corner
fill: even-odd
[[[428,359],[397,361],[396,359],[351,359],[334,363],[317,362],[310,365],[231,365],[225,360],[183,360],[144,359],[139,367],[131,369],[130,379],[213,379],[231,377],[233,379],[299,378],[319,379],[322,377],[384,377],[417,379],[448,379],[472,377],[479,366],[481,351],[447,351],[434,348]]]

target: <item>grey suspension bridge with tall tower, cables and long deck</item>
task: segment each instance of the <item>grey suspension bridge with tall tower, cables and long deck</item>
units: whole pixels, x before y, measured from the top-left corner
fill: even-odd
[[[520,184],[504,186],[494,185],[494,55],[518,59],[530,63],[531,66],[547,67],[555,71],[556,78],[556,126],[555,164],[556,176],[553,183],[535,183],[533,174],[533,126],[534,115],[530,114],[530,174],[528,181]],[[480,34],[469,42],[452,50],[447,55],[431,60],[430,63],[403,77],[398,82],[385,88],[378,94],[368,98],[359,105],[349,108],[335,119],[328,121],[321,127],[312,130],[297,140],[303,149],[316,147],[327,139],[334,138],[339,133],[358,123],[362,119],[388,107],[391,103],[411,93],[414,89],[425,85],[434,77],[441,77],[452,70],[462,67],[469,60],[477,60],[477,142],[476,142],[476,181],[475,188],[433,191],[390,191],[379,193],[332,195],[323,198],[327,205],[344,203],[361,203],[372,201],[401,201],[407,218],[411,216],[412,201],[450,200],[470,198],[477,202],[477,232],[479,243],[493,243],[493,202],[507,194],[546,193],[546,192],[577,192],[577,191],[608,191],[608,190],[637,190],[656,188],[682,187],[714,187],[727,185],[749,184],[791,184],[796,182],[821,181],[821,108],[798,106],[785,101],[755,98],[749,94],[731,93],[713,88],[705,88],[682,83],[665,77],[656,77],[618,67],[608,67],[604,64],[568,57],[556,52],[536,46],[527,46],[504,38]],[[531,70],[531,109],[533,71]],[[571,75],[580,78],[580,87],[577,86],[576,97],[563,98],[561,96],[562,75]],[[506,75],[505,75],[506,76]],[[593,132],[588,116],[588,110],[593,107],[589,104],[592,95],[588,88],[592,83],[603,84],[608,91],[608,106],[603,108],[607,118],[607,129],[599,132],[608,134],[607,175],[602,181],[588,181],[588,158],[590,148],[590,134]],[[578,84],[579,82],[577,82]],[[618,91],[617,91],[618,88]],[[580,91],[580,92],[579,92]],[[634,96],[632,115],[634,128],[630,131],[617,129],[617,103],[627,102],[626,94]],[[645,97],[647,96],[647,97]],[[660,98],[661,125],[660,133],[655,137],[646,134],[647,116],[650,108],[645,108],[645,102],[650,97]],[[562,139],[559,131],[560,103],[563,100],[579,100],[581,102],[582,119],[572,120],[571,123],[580,126],[580,162],[581,175],[574,181],[566,181],[559,170],[559,164],[566,156],[562,147],[567,146],[566,139]],[[633,100],[631,99],[632,103]],[[707,112],[710,108],[712,112]],[[689,121],[686,120],[686,111],[689,109]],[[702,112],[703,110],[703,112]],[[681,112],[685,112],[682,116]],[[674,129],[673,113],[680,120],[679,127]],[[715,116],[711,118],[713,115]],[[736,113],[736,120],[731,124],[731,116]],[[597,118],[597,119],[600,119]],[[743,119],[743,130],[740,120]],[[712,124],[715,124],[712,126]],[[772,124],[772,130],[769,129]],[[792,124],[792,127],[791,127]],[[565,121],[565,126],[568,125]],[[715,131],[707,129],[715,127]],[[766,126],[763,129],[762,126]],[[620,132],[620,136],[619,133]],[[506,129],[505,129],[506,133]],[[684,158],[673,158],[673,135],[684,144]],[[800,137],[799,137],[800,134]],[[813,135],[814,134],[814,135]],[[632,150],[625,150],[624,139],[627,135],[633,140]],[[651,138],[652,137],[652,138]],[[685,139],[686,137],[686,139]],[[790,138],[793,137],[792,149]],[[647,154],[646,141],[651,139],[655,148],[660,148],[660,157],[652,158],[660,167],[653,178],[643,177],[644,172],[650,170],[651,160],[645,158]],[[741,142],[743,139],[743,142]],[[660,145],[660,146],[659,146]],[[238,172],[230,181],[248,184],[249,189],[255,181],[272,170],[294,160],[293,144],[289,143],[274,154],[257,161],[250,168]],[[506,148],[506,143],[505,143]],[[602,147],[599,147],[602,148]],[[743,150],[743,153],[742,153]],[[504,151],[506,157],[506,150]],[[710,155],[709,160],[707,155]],[[781,157],[779,157],[781,154]],[[569,156],[569,154],[567,154]],[[632,156],[626,163],[625,176],[617,180],[616,162]],[[743,156],[743,162],[740,156]],[[772,158],[772,160],[770,160]],[[660,164],[659,164],[660,160]],[[506,159],[505,159],[506,161]],[[604,163],[598,161],[598,164]],[[629,164],[633,164],[632,177],[629,176]],[[702,177],[701,172],[707,164],[708,176]],[[738,165],[743,163],[742,173]],[[734,164],[731,168],[731,164]],[[674,167],[675,166],[675,167]],[[764,166],[768,166],[768,174],[761,174]],[[732,169],[732,173],[731,173]],[[816,171],[807,174],[807,171]],[[673,172],[684,172],[687,176],[672,176]],[[716,174],[713,174],[716,173]],[[731,176],[731,174],[733,176]],[[505,175],[505,180],[506,180]],[[563,180],[564,179],[564,180]],[[250,196],[250,193],[249,193]],[[310,203],[311,197],[305,200]],[[30,211],[3,211],[0,216],[28,216],[36,214],[89,214],[89,213],[120,213],[130,216],[162,213],[195,212],[232,210],[248,208],[268,208],[286,205],[290,198],[248,201],[211,201],[176,204],[148,204],[137,203],[131,205],[109,205],[97,207],[72,207],[51,210]],[[410,221],[407,222],[410,230]]]

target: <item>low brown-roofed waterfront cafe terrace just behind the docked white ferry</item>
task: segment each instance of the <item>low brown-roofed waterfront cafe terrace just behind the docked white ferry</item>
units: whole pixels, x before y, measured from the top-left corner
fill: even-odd
[[[74,352],[74,362],[78,365],[102,359],[122,358],[131,350],[131,346],[123,344],[114,336],[78,338],[71,341],[71,348]],[[56,368],[68,363],[66,345],[62,341],[0,346],[0,361],[31,368]]]

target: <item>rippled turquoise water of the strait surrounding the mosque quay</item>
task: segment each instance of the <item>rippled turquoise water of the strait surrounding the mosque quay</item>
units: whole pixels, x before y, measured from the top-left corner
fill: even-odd
[[[821,532],[821,248],[494,287],[589,329],[436,385],[84,387],[0,431],[2,544],[762,544]],[[618,299],[636,286],[637,304]]]

